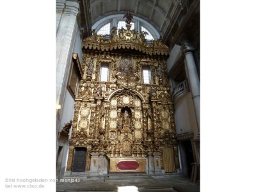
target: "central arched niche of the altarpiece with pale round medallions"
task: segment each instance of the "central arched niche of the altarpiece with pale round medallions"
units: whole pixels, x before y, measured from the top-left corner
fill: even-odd
[[[131,90],[120,90],[109,100],[106,138],[109,157],[143,156],[143,100]],[[108,129],[109,127],[109,129]]]

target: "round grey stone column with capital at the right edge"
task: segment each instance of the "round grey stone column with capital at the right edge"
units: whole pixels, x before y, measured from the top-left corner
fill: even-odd
[[[186,57],[186,65],[188,69],[188,80],[191,88],[192,100],[195,109],[198,134],[200,134],[200,81],[196,70],[196,64],[193,56],[195,48],[189,42],[185,41],[182,49]]]

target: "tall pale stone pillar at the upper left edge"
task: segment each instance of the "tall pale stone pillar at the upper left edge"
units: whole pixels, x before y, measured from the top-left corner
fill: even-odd
[[[67,75],[77,33],[79,1],[57,1],[56,25],[56,104],[63,104]],[[63,92],[64,91],[64,92]]]

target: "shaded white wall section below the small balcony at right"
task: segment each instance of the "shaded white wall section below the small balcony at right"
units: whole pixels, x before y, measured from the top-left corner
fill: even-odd
[[[183,133],[193,132],[196,136],[198,131],[191,93],[185,92],[177,96],[174,100],[174,108],[177,134],[180,134],[180,129],[182,129]]]

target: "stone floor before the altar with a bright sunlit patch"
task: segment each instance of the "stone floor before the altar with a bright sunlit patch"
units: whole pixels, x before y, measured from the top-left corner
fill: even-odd
[[[101,178],[72,177],[72,179],[77,179],[77,182],[57,182],[56,191],[200,191],[198,184],[193,184],[189,178],[182,175],[109,175]]]

